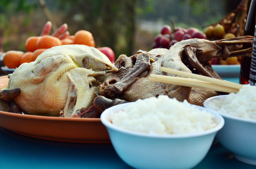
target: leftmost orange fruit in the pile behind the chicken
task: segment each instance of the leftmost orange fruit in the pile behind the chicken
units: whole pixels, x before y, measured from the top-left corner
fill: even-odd
[[[22,51],[7,51],[3,57],[3,64],[8,68],[18,68],[23,54],[24,52]]]

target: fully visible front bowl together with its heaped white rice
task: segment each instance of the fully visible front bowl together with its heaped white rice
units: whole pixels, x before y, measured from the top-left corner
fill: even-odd
[[[205,158],[224,119],[168,96],[112,106],[101,114],[116,153],[134,168],[192,168]]]

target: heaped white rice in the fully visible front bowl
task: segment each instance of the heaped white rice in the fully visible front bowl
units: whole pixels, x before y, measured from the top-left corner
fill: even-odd
[[[190,134],[216,126],[214,115],[168,96],[137,100],[110,114],[115,126],[149,134]]]

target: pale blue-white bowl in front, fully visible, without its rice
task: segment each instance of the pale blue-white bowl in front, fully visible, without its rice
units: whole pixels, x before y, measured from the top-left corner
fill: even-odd
[[[134,168],[192,168],[205,158],[216,133],[224,125],[218,113],[197,106],[214,114],[216,127],[197,134],[157,135],[128,131],[114,126],[109,114],[133,103],[112,106],[101,114],[116,153]]]

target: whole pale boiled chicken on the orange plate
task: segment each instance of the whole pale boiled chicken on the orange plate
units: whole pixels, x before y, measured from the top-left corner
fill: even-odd
[[[97,77],[117,70],[97,48],[56,46],[21,64],[8,76],[7,88],[20,88],[15,102],[27,114],[76,117],[98,94]]]

